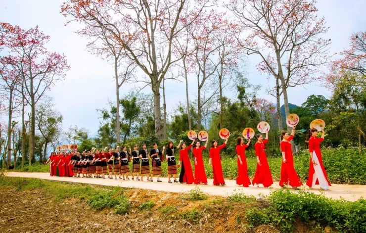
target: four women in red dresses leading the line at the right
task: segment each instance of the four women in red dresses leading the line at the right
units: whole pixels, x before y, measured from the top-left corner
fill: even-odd
[[[321,137],[318,138],[318,130],[311,129],[312,136],[309,139],[309,152],[310,152],[310,165],[309,165],[309,175],[306,185],[312,188],[315,185],[320,185],[320,189],[329,189],[330,183],[328,181],[324,165],[321,159],[320,142],[324,140],[324,130],[321,131]],[[295,168],[294,160],[291,149],[291,140],[295,135],[295,126],[292,127],[291,134],[289,135],[287,131],[281,133],[281,175],[279,180],[279,186],[287,187],[292,186],[298,189],[303,185],[300,178],[298,177]],[[262,184],[264,187],[270,187],[273,184],[273,179],[270,171],[270,167],[267,161],[267,156],[265,152],[265,144],[268,142],[268,133],[266,133],[266,138],[263,139],[263,135],[258,134],[256,136],[257,142],[254,145],[255,153],[257,157],[257,168],[255,171],[254,179],[252,183],[247,175],[247,165],[245,162],[245,148],[249,145],[250,140],[247,144],[244,144],[242,138],[238,138],[236,152],[238,155],[238,179],[236,183],[243,186],[259,186]],[[244,158],[244,159],[243,159]]]

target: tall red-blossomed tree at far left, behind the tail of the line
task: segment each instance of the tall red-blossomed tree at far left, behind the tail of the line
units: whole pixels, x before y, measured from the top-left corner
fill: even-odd
[[[8,55],[12,69],[23,80],[23,91],[29,96],[27,102],[31,107],[29,164],[35,154],[35,109],[37,102],[49,90],[50,86],[63,80],[70,69],[64,55],[48,52],[45,48],[49,40],[38,28],[28,30],[8,23],[0,23],[6,33],[1,33],[1,46]]]

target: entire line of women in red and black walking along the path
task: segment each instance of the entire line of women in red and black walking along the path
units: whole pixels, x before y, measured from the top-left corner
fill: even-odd
[[[309,179],[306,185],[312,188],[319,184],[321,189],[326,190],[329,188],[330,183],[327,179],[321,159],[320,142],[324,139],[324,131],[322,130],[321,132],[321,137],[318,138],[318,130],[311,130],[312,136],[309,139]],[[282,187],[292,186],[293,188],[298,188],[303,185],[294,168],[291,149],[291,140],[294,135],[295,126],[292,128],[291,134],[288,134],[286,131],[281,134],[282,140],[280,142],[280,148],[282,153],[282,164],[279,186]],[[247,143],[245,143],[244,139],[241,137],[238,137],[236,140],[238,169],[236,184],[244,187],[250,185],[259,186],[262,184],[264,187],[270,187],[273,184],[273,179],[265,151],[265,144],[268,142],[268,132],[266,133],[265,138],[263,138],[262,134],[256,135],[255,138],[257,139],[257,142],[254,144],[257,167],[252,181],[250,181],[248,176],[248,166],[245,157],[245,150],[249,146],[251,140],[248,139]],[[226,146],[228,139],[229,136],[222,145],[218,145],[217,140],[211,141],[209,165],[212,166],[213,184],[215,186],[226,185],[223,177],[220,151]],[[127,147],[123,146],[121,151],[119,150],[119,147],[116,147],[114,151],[112,149],[106,151],[107,148],[105,148],[101,151],[84,151],[81,154],[77,151],[74,153],[52,152],[47,163],[49,163],[51,167],[51,176],[105,178],[106,175],[108,175],[109,179],[130,180],[129,174],[131,171],[129,162],[132,162],[132,180],[144,181],[144,177],[146,177],[146,181],[153,182],[153,176],[155,175],[157,178],[156,181],[162,182],[160,180],[160,176],[162,175],[161,162],[165,160],[167,161],[168,166],[168,183],[207,185],[202,150],[206,149],[208,138],[205,141],[204,146],[201,146],[200,141],[196,141],[195,144],[194,142],[195,140],[192,140],[192,142],[187,145],[181,140],[178,146],[174,146],[173,141],[169,141],[166,146],[162,147],[161,151],[158,149],[157,143],[153,143],[150,151],[146,149],[145,144],[142,144],[142,149],[138,150],[137,145],[135,145],[133,151],[131,151],[131,148],[127,151]],[[188,156],[188,151],[191,148],[194,158],[194,173]],[[180,149],[178,164],[175,156],[175,150],[177,149]],[[181,167],[181,173],[178,178],[177,174],[179,167]]]

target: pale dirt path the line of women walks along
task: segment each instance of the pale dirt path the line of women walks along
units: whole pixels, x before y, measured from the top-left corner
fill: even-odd
[[[121,187],[136,187],[151,189],[156,191],[167,191],[167,192],[186,192],[194,188],[196,185],[186,185],[180,183],[168,183],[168,178],[161,178],[162,183],[156,182],[156,177],[154,177],[154,182],[147,181],[121,181],[115,179],[90,179],[90,178],[74,178],[74,177],[51,177],[49,173],[27,173],[27,172],[6,172],[5,176],[9,177],[24,177],[24,178],[38,178],[44,180],[54,180],[54,181],[67,181],[67,182],[77,182],[84,184],[94,184],[94,185],[104,185],[104,186],[121,186]],[[131,179],[131,177],[130,177]],[[214,186],[213,180],[208,180],[208,185],[198,185],[200,190],[204,193],[211,195],[229,196],[235,192],[243,192],[246,195],[268,195],[275,189],[281,188],[278,183],[272,185],[272,188],[264,188],[263,186],[254,187],[243,187],[236,185],[234,180],[226,180],[226,186]],[[293,189],[291,189],[293,190]],[[320,190],[319,186],[315,186],[314,189],[304,189],[307,192],[313,192],[316,194],[323,194],[326,197],[333,199],[344,198],[349,201],[356,201],[361,197],[366,197],[366,186],[363,185],[337,185],[332,184],[330,190]],[[297,191],[297,190],[293,190]]]

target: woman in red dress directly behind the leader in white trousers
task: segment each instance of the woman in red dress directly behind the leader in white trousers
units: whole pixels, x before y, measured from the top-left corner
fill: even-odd
[[[302,186],[302,182],[297,175],[294,168],[294,159],[292,156],[291,140],[295,136],[295,128],[292,127],[291,135],[288,135],[287,131],[281,133],[281,152],[282,152],[282,164],[281,164],[281,177],[279,179],[279,186],[285,187],[287,185],[293,188]]]

